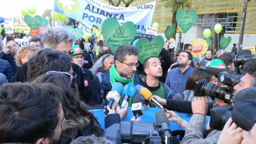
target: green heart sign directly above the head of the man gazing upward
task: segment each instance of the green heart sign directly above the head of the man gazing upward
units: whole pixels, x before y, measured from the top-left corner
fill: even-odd
[[[151,42],[147,38],[140,38],[135,44],[136,49],[139,51],[138,60],[140,63],[150,57],[158,57],[164,46],[164,38],[162,36],[156,36]]]

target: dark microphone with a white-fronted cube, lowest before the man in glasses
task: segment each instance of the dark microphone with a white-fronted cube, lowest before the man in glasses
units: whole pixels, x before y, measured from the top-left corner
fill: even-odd
[[[134,95],[133,103],[132,103],[132,113],[135,116],[135,119],[144,115],[144,110],[143,110],[144,102],[145,102],[145,99],[142,94],[138,93]]]

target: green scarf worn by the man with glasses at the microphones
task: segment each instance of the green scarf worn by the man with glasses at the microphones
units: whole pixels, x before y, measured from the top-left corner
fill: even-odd
[[[116,70],[116,66],[113,65],[110,69],[109,69],[109,79],[110,79],[110,84],[111,86],[113,86],[116,81],[117,82],[120,82],[122,84],[127,84],[127,83],[131,83],[133,84],[133,78],[134,78],[134,75],[131,79],[127,79],[127,78],[123,78],[121,77],[119,74],[118,74],[118,71]],[[132,101],[133,99],[132,98],[129,98],[128,102],[129,102],[129,107],[132,106]],[[122,104],[122,100],[119,99],[119,102],[118,104],[121,106]]]

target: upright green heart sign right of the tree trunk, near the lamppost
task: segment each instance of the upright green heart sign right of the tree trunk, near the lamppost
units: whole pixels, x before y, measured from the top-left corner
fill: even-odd
[[[186,13],[183,9],[177,11],[176,20],[183,33],[187,33],[187,31],[193,27],[196,19],[197,15],[196,11],[194,10],[190,10],[188,13]]]

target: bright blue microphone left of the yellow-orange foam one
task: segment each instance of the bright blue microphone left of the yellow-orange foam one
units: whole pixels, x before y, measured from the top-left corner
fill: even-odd
[[[135,86],[131,83],[128,83],[124,86],[124,89],[122,91],[122,94],[124,95],[124,99],[121,105],[120,109],[123,109],[128,101],[128,99],[134,96],[135,94]]]

